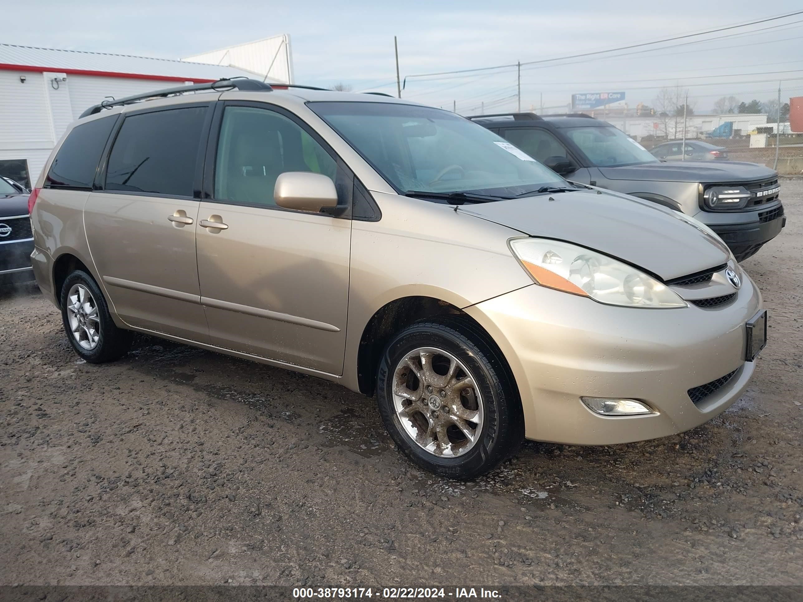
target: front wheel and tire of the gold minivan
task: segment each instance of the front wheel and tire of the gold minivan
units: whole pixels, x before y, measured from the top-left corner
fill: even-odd
[[[452,360],[453,384],[446,384]],[[465,376],[475,386],[465,386]],[[521,401],[507,363],[482,329],[459,316],[422,320],[393,336],[378,368],[377,403],[407,458],[444,477],[487,473],[524,438]]]

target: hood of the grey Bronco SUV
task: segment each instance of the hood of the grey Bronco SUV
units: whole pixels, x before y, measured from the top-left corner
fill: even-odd
[[[776,171],[764,167],[764,165],[740,161],[666,161],[663,163],[659,161],[598,169],[609,180],[700,182],[702,184],[766,180],[778,175]]]

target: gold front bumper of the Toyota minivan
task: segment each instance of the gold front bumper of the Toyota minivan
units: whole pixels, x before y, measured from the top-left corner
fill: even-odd
[[[736,401],[755,364],[745,362],[745,322],[761,307],[744,284],[728,305],[649,310],[612,307],[532,285],[465,311],[502,349],[535,441],[612,445],[680,433]],[[697,405],[688,390],[735,372]],[[580,397],[645,401],[655,413],[604,417]]]

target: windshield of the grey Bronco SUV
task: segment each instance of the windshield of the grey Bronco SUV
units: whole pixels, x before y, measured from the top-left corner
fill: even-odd
[[[584,126],[565,128],[563,131],[597,167],[622,167],[659,162],[650,151],[613,126],[602,128]]]

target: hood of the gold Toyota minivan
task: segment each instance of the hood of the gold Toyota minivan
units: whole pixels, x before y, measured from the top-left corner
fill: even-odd
[[[624,194],[577,190],[461,205],[460,211],[530,236],[600,251],[663,280],[721,266],[730,258],[724,242],[685,216]]]

